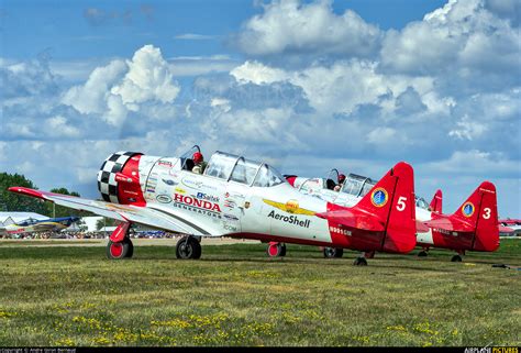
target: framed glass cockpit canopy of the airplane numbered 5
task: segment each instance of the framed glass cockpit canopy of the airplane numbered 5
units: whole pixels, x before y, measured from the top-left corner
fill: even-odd
[[[219,151],[210,158],[204,175],[257,187],[271,187],[286,183],[276,169],[265,163]]]

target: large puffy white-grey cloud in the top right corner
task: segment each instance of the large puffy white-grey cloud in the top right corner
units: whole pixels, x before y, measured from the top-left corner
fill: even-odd
[[[450,0],[443,8],[386,33],[385,68],[408,74],[452,71],[452,78],[519,70],[519,29],[487,10],[484,0]],[[519,82],[519,80],[517,80]]]

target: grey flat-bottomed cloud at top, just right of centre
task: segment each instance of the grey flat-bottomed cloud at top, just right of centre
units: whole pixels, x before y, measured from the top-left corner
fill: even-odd
[[[236,42],[248,55],[367,56],[378,47],[379,35],[377,26],[351,10],[335,14],[331,1],[276,0],[243,24]]]

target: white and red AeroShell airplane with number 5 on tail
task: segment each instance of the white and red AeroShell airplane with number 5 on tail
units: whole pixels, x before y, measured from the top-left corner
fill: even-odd
[[[103,201],[10,187],[9,191],[121,221],[107,245],[109,258],[133,255],[131,224],[184,234],[177,258],[199,258],[201,236],[408,253],[415,245],[412,167],[400,162],[353,207],[303,195],[266,163],[217,151],[203,174],[191,172],[198,145],[180,157],[134,152],[110,155],[98,172]],[[355,265],[367,265],[365,257]]]

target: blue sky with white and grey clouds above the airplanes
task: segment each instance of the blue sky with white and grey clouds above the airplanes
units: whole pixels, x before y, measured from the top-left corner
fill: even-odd
[[[98,198],[117,151],[193,144],[284,174],[414,168],[521,218],[521,2],[0,2],[0,172]]]

